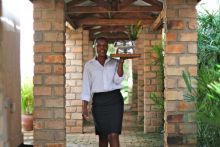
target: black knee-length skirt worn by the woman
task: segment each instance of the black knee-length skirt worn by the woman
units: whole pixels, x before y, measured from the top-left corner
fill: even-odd
[[[124,101],[119,89],[94,93],[92,115],[96,135],[121,134]]]

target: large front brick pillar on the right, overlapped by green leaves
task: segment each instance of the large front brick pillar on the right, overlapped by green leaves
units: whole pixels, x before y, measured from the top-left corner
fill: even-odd
[[[195,106],[182,71],[197,75],[196,0],[165,0],[165,146],[196,146]]]

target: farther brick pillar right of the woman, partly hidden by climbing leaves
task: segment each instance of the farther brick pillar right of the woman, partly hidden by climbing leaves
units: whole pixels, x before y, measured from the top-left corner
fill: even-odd
[[[155,61],[153,46],[161,44],[161,32],[152,32],[146,29],[144,42],[144,132],[157,132],[162,123],[162,115],[155,108],[150,94],[155,92],[158,96],[162,95],[158,81],[159,65],[153,64]]]

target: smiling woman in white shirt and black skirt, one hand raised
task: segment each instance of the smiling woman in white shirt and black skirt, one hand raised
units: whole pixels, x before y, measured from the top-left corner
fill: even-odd
[[[124,101],[121,95],[124,59],[107,57],[108,40],[96,41],[97,55],[88,61],[83,71],[83,119],[88,120],[88,102],[92,97],[92,115],[99,147],[119,147]]]

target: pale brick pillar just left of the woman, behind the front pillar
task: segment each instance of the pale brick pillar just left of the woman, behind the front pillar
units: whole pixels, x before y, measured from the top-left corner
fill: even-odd
[[[85,33],[86,34],[86,33]],[[85,35],[84,34],[84,35]],[[82,133],[82,51],[83,30],[66,31],[66,132]],[[88,43],[85,43],[85,45]]]

